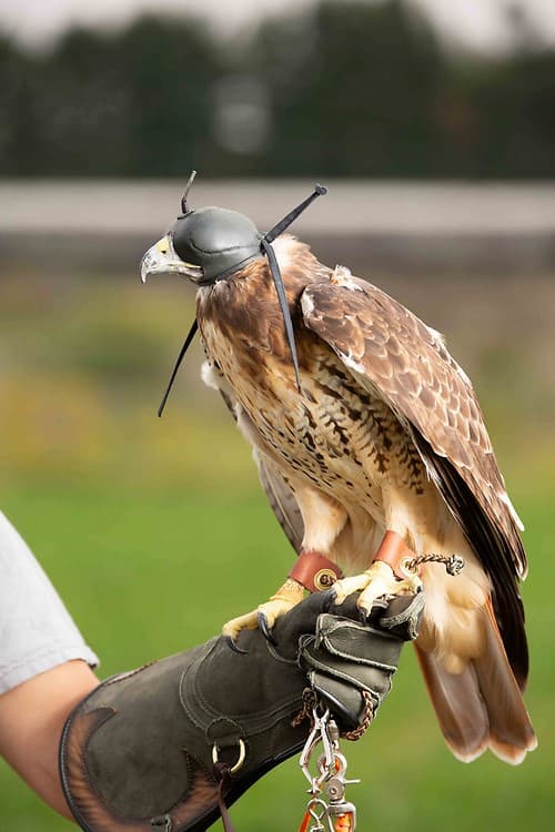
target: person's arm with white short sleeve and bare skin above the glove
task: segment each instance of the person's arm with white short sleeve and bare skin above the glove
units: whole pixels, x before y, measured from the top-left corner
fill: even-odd
[[[0,755],[69,818],[58,745],[98,664],[33,554],[0,511]]]

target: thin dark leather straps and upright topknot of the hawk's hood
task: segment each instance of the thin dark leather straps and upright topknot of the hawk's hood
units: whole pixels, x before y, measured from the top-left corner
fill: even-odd
[[[183,214],[188,213],[186,197],[189,195],[189,191],[191,190],[195,175],[196,175],[196,171],[192,171],[191,176],[189,177],[189,182],[186,183],[186,186],[185,186],[185,192],[181,199],[181,210]],[[319,196],[323,196],[326,193],[327,193],[327,189],[324,185],[319,185],[316,183],[316,185],[314,185],[314,191],[310,194],[310,196],[307,196],[305,200],[303,200],[303,202],[296,205],[296,207],[294,207],[293,211],[290,211],[290,213],[286,214],[282,220],[280,220],[280,222],[276,223],[273,226],[273,229],[266,232],[264,236],[262,237],[262,240],[260,241],[260,250],[261,250],[261,253],[268,257],[270,272],[272,274],[272,280],[275,286],[275,293],[278,295],[278,301],[280,303],[280,308],[283,315],[283,324],[285,326],[285,335],[287,337],[287,344],[289,344],[289,349],[291,353],[291,359],[293,362],[293,369],[295,372],[295,382],[296,382],[296,387],[299,389],[299,393],[301,393],[302,389],[301,389],[301,372],[299,368],[299,356],[296,353],[296,345],[295,345],[295,334],[293,331],[293,322],[291,319],[291,313],[289,310],[287,296],[285,294],[285,286],[283,284],[283,278],[281,276],[280,266],[278,264],[278,257],[275,256],[275,252],[273,250],[272,243],[278,236],[280,236],[280,234],[283,234],[283,232],[286,229],[289,229],[289,226],[297,219],[297,216],[300,216],[300,214],[303,213],[303,211],[305,211],[309,207],[309,205],[311,205],[314,202],[314,200],[316,200]],[[179,355],[175,361],[175,365],[172,369],[170,381],[168,382],[168,386],[165,388],[164,395],[162,396],[162,402],[160,403],[160,407],[158,408],[159,416],[162,416],[162,413],[164,412],[165,403],[168,402],[168,397],[170,395],[171,388],[173,387],[175,376],[178,375],[178,371],[181,366],[183,358],[185,357],[186,351],[189,349],[196,334],[198,328],[199,328],[199,323],[196,318],[194,318],[191,325],[191,328],[189,329],[189,333],[186,335],[186,338],[183,342],[183,346],[181,347],[179,352]]]

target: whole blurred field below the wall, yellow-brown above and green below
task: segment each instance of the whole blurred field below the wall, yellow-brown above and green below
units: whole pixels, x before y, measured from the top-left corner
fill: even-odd
[[[191,315],[190,306],[175,303],[179,291],[162,285],[145,294],[124,281],[2,284],[0,506],[101,656],[102,677],[211,637],[222,621],[268,597],[292,559],[245,443],[218,396],[196,382],[199,349],[167,415],[155,417]],[[431,310],[437,303],[435,292],[411,291],[422,314],[426,298]],[[473,292],[482,324],[471,338],[465,332],[457,337],[471,346],[463,363],[477,381],[527,527],[527,703],[539,748],[517,769],[490,754],[472,765],[456,762],[407,648],[369,734],[345,744],[349,773],[363,781],[347,793],[362,830],[521,832],[546,828],[555,810],[551,328],[531,331],[536,346],[527,338],[526,361],[519,354],[508,372],[496,292],[486,282]],[[524,304],[523,296],[519,312],[532,315]],[[435,319],[424,316],[440,323],[437,313]],[[544,317],[551,327],[551,316]],[[290,761],[253,787],[232,814],[240,830],[281,832],[297,828],[304,800],[304,780]],[[63,832],[71,825],[0,764],[0,832],[8,829]]]

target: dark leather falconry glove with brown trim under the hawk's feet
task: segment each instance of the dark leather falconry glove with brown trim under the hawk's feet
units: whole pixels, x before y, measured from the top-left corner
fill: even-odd
[[[307,735],[311,684],[344,731],[391,687],[402,643],[416,636],[423,593],[377,606],[360,623],[356,596],[316,592],[281,617],[273,643],[219,637],[114,676],[72,712],[60,748],[68,803],[88,832],[200,832]]]

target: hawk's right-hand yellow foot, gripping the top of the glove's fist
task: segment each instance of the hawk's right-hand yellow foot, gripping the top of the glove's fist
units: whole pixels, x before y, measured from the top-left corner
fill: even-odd
[[[375,560],[370,569],[351,578],[342,578],[333,585],[334,603],[343,603],[352,592],[361,592],[357,606],[366,616],[377,598],[384,596],[407,595],[420,592],[422,581],[416,572],[406,572],[406,578],[400,580],[395,572],[383,560]]]

